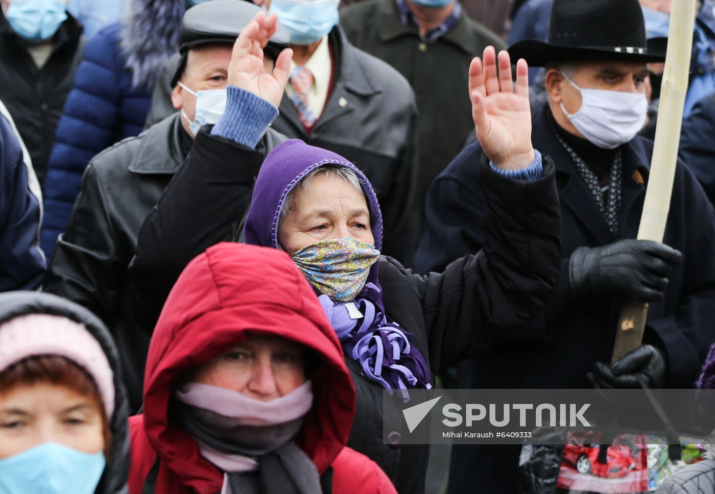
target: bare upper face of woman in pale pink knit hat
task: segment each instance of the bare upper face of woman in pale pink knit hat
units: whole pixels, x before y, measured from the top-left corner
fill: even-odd
[[[42,443],[104,450],[102,406],[70,387],[39,382],[0,392],[0,459]]]

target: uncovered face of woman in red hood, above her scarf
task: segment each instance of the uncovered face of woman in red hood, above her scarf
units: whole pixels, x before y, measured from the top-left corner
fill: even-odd
[[[197,367],[188,380],[270,401],[305,383],[302,346],[282,337],[249,335]]]

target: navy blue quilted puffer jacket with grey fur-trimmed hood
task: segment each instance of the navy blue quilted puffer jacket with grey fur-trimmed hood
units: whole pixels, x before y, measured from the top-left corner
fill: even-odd
[[[179,49],[186,0],[126,0],[130,13],[89,41],[59,121],[45,179],[41,245],[64,232],[89,159],[139,134],[152,89]],[[158,120],[157,120],[158,121]]]

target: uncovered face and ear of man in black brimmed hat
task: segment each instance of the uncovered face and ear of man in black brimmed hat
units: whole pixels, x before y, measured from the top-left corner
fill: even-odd
[[[568,75],[568,74],[567,74]],[[576,71],[569,75],[571,80],[581,89],[607,89],[630,93],[646,94],[648,86],[648,68],[641,62],[627,61],[584,61],[576,65]],[[572,134],[583,137],[559,106],[570,114],[581,109],[581,92],[556,69],[550,69],[546,74],[546,91],[553,116],[558,124]]]

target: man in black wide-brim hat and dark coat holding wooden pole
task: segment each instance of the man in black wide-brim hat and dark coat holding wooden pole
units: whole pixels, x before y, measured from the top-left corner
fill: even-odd
[[[649,51],[636,0],[556,0],[547,42],[511,46],[546,66],[548,103],[533,117],[533,147],[556,165],[561,276],[543,315],[494,332],[460,368],[465,388],[692,387],[715,340],[715,213],[691,172],[676,168],[664,243],[635,240],[653,142],[646,121]],[[478,142],[433,183],[420,272],[483,244],[485,199]],[[445,242],[445,238],[449,239]],[[518,283],[518,280],[514,281]],[[644,345],[613,367],[618,312],[650,302]],[[517,492],[518,445],[455,446],[449,493]]]

